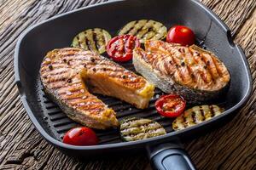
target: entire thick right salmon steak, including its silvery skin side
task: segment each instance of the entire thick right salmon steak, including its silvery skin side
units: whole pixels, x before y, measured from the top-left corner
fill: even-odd
[[[156,87],[168,94],[180,94],[189,103],[217,99],[230,84],[224,63],[195,45],[147,41],[145,51],[134,50],[133,64]]]

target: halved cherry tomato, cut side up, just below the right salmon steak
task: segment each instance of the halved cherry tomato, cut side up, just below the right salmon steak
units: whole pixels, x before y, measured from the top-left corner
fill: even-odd
[[[158,111],[160,115],[166,117],[177,117],[183,113],[186,101],[179,95],[169,94],[162,95],[154,105],[156,111]]]

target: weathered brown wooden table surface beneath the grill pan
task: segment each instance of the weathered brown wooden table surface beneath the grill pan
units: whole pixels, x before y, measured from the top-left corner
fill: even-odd
[[[14,77],[17,37],[28,26],[102,0],[0,1],[0,168],[151,169],[147,156],[77,161],[48,144],[24,110]],[[185,144],[199,169],[256,169],[256,1],[202,0],[230,27],[253,74],[253,96],[224,127]]]

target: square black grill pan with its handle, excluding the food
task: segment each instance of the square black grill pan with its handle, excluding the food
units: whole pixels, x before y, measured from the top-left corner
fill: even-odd
[[[155,90],[148,109],[133,106],[110,97],[97,95],[113,108],[119,120],[125,117],[144,117],[166,128],[166,135],[133,142],[121,142],[118,129],[96,130],[100,144],[73,146],[61,143],[63,134],[79,124],[71,121],[44,94],[39,81],[39,68],[44,55],[54,48],[68,47],[73,37],[87,28],[101,27],[112,36],[131,20],[157,20],[165,26],[185,25],[195,31],[197,43],[217,54],[230,71],[230,89],[225,99],[214,104],[225,108],[222,115],[181,131],[172,130],[173,119],[160,116],[154,101],[163,94]],[[107,55],[106,55],[107,57]],[[123,64],[134,71],[131,63]],[[70,156],[100,156],[120,151],[147,149],[149,159],[156,169],[195,169],[189,156],[179,144],[179,139],[190,139],[197,134],[224,125],[246,104],[252,91],[252,77],[247,59],[241,48],[234,44],[230,30],[210,9],[195,0],[129,0],[100,3],[61,14],[27,29],[15,48],[15,82],[21,101],[38,132],[50,144]]]

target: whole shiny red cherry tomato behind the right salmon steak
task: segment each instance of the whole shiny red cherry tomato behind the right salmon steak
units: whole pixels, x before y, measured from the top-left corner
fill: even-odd
[[[195,43],[195,34],[187,26],[173,26],[167,33],[166,42],[180,43],[183,46]]]

